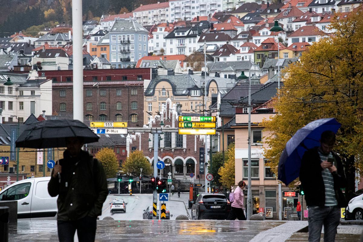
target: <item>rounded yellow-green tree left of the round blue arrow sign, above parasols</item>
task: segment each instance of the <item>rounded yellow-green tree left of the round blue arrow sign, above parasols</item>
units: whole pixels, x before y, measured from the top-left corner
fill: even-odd
[[[142,168],[142,175],[150,176],[153,173],[150,162],[145,158],[142,151],[131,152],[129,157],[122,163],[123,173],[131,173],[138,176],[140,168]]]

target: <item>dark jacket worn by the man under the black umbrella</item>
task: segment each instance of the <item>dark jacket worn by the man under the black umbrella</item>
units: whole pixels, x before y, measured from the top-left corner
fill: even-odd
[[[48,183],[50,196],[57,195],[57,220],[74,221],[85,216],[97,217],[102,213],[102,205],[107,197],[106,174],[101,162],[88,152],[71,157],[65,151],[61,179],[52,177]]]

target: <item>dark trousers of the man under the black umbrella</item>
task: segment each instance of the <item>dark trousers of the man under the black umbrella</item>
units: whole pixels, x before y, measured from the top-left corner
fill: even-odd
[[[74,233],[79,242],[93,242],[96,235],[96,218],[86,216],[76,221],[57,221],[59,242],[73,242]]]

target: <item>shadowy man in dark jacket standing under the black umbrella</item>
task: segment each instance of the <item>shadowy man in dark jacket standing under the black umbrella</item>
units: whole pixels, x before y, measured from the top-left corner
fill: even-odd
[[[67,138],[63,159],[54,165],[48,192],[58,195],[57,227],[60,242],[95,240],[97,216],[107,197],[106,173],[101,162],[82,151],[83,139]]]

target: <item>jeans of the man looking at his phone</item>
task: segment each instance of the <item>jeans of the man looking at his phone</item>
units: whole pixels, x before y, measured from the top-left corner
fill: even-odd
[[[321,229],[324,225],[324,242],[334,242],[340,221],[338,206],[309,206],[309,242],[319,242]]]

